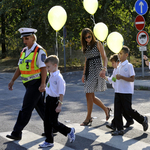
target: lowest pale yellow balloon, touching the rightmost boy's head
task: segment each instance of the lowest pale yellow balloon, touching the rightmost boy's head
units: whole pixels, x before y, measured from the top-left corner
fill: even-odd
[[[112,32],[107,37],[107,45],[114,53],[119,53],[123,46],[123,36],[119,32]]]

